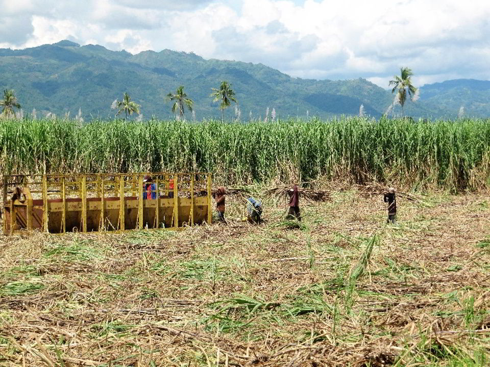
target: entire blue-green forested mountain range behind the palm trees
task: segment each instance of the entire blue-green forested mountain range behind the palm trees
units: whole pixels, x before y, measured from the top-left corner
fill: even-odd
[[[100,45],[63,40],[24,50],[0,49],[0,88],[14,89],[24,113],[37,117],[53,113],[85,119],[111,118],[111,104],[124,92],[141,105],[144,118],[169,118],[168,92],[180,85],[194,101],[197,119],[219,117],[218,103],[209,96],[220,81],[232,84],[238,108],[225,116],[242,120],[264,118],[275,109],[278,117],[357,115],[381,116],[394,95],[365,79],[309,80],[292,78],[262,64],[206,60],[193,53],[163,50],[132,55],[110,51]],[[407,102],[405,114],[422,118],[455,118],[464,107],[465,116],[490,116],[490,81],[451,80],[424,85],[420,99]],[[396,106],[392,114],[399,114]],[[187,115],[187,118],[191,117]]]

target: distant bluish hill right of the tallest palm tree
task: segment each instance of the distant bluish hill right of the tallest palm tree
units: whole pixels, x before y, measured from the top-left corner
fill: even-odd
[[[437,106],[454,117],[464,107],[464,116],[490,116],[490,81],[455,79],[427,84],[420,88],[421,101]]]

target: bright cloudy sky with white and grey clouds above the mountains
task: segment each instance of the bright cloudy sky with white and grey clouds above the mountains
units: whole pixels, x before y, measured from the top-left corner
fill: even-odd
[[[70,39],[131,53],[164,48],[384,88],[490,80],[488,0],[0,0],[0,47]]]

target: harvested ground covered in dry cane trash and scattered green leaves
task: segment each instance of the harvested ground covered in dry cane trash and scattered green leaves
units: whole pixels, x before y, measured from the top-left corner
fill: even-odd
[[[400,197],[393,226],[371,191],[299,228],[236,195],[228,226],[3,237],[0,365],[487,365],[490,196]]]

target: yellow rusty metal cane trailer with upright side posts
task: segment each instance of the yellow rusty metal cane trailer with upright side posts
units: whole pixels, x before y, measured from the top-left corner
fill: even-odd
[[[3,214],[5,235],[211,224],[211,174],[5,175]]]

